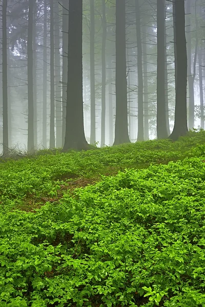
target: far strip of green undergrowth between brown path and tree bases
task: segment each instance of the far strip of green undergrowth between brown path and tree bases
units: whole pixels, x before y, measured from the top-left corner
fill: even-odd
[[[97,178],[99,174],[114,174],[128,168],[145,168],[150,163],[183,160],[190,149],[203,144],[205,131],[191,132],[177,142],[152,140],[88,151],[68,153],[60,150],[41,150],[35,156],[17,161],[1,160],[1,209],[22,208],[28,198],[56,196],[60,186],[76,178]]]

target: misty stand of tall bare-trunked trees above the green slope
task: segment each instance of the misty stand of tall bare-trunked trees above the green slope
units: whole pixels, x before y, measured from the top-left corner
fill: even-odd
[[[202,0],[7,0],[0,22],[3,156],[204,128]]]

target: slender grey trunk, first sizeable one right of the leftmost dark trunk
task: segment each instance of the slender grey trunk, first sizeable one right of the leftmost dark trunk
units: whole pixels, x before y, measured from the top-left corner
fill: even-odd
[[[33,107],[33,0],[29,0],[28,21],[28,151],[34,150]]]

